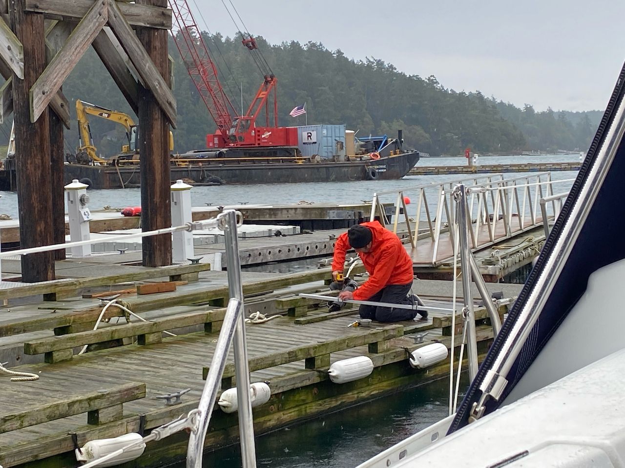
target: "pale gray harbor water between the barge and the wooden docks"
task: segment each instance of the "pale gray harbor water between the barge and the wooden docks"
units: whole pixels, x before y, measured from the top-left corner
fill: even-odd
[[[480,164],[521,163],[521,162],[566,162],[579,161],[579,154],[569,155],[537,155],[537,156],[501,156],[480,157]],[[464,165],[463,157],[422,158],[419,165]],[[506,178],[531,175],[532,173],[510,173]],[[553,180],[564,180],[576,176],[576,172],[553,172]],[[282,204],[299,202],[316,203],[355,203],[371,200],[374,192],[387,190],[404,190],[429,183],[441,183],[455,180],[460,175],[424,175],[406,176],[400,180],[367,180],[361,182],[313,182],[313,183],[275,183],[259,185],[215,185],[211,187],[194,187],[191,190],[191,201],[194,206],[204,205],[239,205],[250,204]],[[568,190],[571,183],[562,183],[554,187],[554,192]],[[409,194],[409,193],[408,193]],[[17,195],[12,192],[0,192],[0,213],[17,218]],[[92,210],[101,210],[109,205],[113,208],[141,205],[139,188],[125,190],[89,190]],[[392,198],[392,197],[391,197]],[[384,200],[394,201],[394,200]]]

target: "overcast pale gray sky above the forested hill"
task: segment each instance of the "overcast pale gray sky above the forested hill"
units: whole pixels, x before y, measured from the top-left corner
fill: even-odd
[[[221,1],[188,1],[200,29],[236,32]],[[625,59],[620,0],[231,1],[272,44],[321,42],[536,110],[603,110]]]

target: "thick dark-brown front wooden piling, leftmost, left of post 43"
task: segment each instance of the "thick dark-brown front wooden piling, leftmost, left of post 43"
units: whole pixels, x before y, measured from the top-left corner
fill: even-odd
[[[12,76],[13,112],[19,203],[19,236],[22,247],[51,245],[54,241],[53,202],[48,113],[31,122],[29,90],[46,67],[44,17],[25,11],[25,0],[11,2],[11,29],[24,47],[24,79]],[[22,281],[54,279],[54,253],[24,255]]]

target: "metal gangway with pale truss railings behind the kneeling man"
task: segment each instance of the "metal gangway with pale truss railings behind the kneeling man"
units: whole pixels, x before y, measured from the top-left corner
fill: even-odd
[[[504,178],[502,173],[496,173],[376,192],[371,202],[371,220],[378,217],[382,225],[394,233],[401,226],[402,230],[407,231],[413,249],[417,247],[417,239],[422,238],[426,243],[429,241],[430,248],[418,249],[422,257],[420,262],[435,266],[452,256],[454,233],[449,230],[449,226],[456,223],[457,205],[452,200],[456,185],[462,184],[467,190],[464,203],[471,222],[469,243],[471,250],[476,251],[539,227],[544,220],[548,224],[548,220],[559,213],[556,209],[557,200],[565,197],[564,194],[559,194],[557,198],[551,198],[555,197],[554,185],[572,180],[574,179],[552,180],[551,172],[537,172],[513,178]],[[407,195],[414,194],[416,209],[412,208],[414,217],[411,217]],[[392,221],[386,216],[382,203],[382,199],[389,196],[395,198]],[[544,214],[539,206],[543,198],[547,199],[545,203],[552,202],[553,205]],[[421,222],[427,224],[419,229]]]

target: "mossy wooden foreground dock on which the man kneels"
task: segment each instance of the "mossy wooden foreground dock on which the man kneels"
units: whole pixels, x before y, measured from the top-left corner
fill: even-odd
[[[299,292],[327,291],[322,280],[329,273],[329,268],[322,268],[290,275],[243,274],[246,314],[258,310],[284,315],[246,326],[252,382],[266,381],[272,391],[270,401],[254,409],[257,433],[447,373],[447,363],[427,372],[412,369],[404,348],[414,349],[433,340],[449,343],[450,314],[431,311],[427,321],[348,328],[356,310],[327,314],[325,304],[296,296]],[[4,468],[41,463],[74,467],[74,439],[81,446],[91,439],[130,431],[146,434],[195,407],[227,301],[225,272],[199,271],[198,275],[199,281],[182,281],[176,291],[124,293],[120,298],[124,306],[149,323],[134,318],[127,322],[123,312],[111,307],[109,323],[91,330],[103,308],[93,294],[0,309],[0,349],[14,353],[22,350],[9,366],[40,377],[37,381],[11,382],[9,376],[0,376],[4,396],[0,464]],[[164,272],[161,279],[171,278]],[[51,283],[57,282],[48,284],[54,290],[56,285]],[[128,290],[128,285],[111,284],[106,289],[124,288]],[[507,288],[507,296],[519,289],[497,284],[489,288],[493,292]],[[417,281],[416,291],[429,303],[445,307],[451,283]],[[486,346],[492,333],[484,324],[482,308],[477,308],[476,318],[479,338]],[[459,316],[457,323],[461,323]],[[166,330],[178,336],[164,336]],[[415,344],[410,335],[425,331],[428,334],[423,343]],[[78,356],[85,344],[90,351]],[[109,346],[116,347],[103,349]],[[329,381],[326,370],[332,362],[363,354],[376,366],[369,378],[342,385]],[[26,356],[46,362],[14,366]],[[223,388],[236,385],[231,376],[228,366]],[[166,406],[157,398],[185,388],[191,391],[180,404]],[[216,409],[207,446],[232,443],[236,424],[236,414]],[[179,434],[149,444],[149,456],[134,466],[156,466],[183,456],[185,451],[186,436]]]

